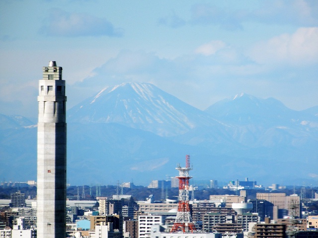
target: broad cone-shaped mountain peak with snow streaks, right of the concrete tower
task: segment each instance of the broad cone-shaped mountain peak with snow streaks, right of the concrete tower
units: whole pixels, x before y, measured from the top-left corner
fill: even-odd
[[[161,136],[216,123],[208,114],[150,83],[123,83],[102,89],[68,111],[70,122],[119,123]]]

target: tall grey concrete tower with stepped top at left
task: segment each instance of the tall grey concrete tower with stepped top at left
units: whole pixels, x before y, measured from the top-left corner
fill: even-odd
[[[37,237],[66,237],[66,96],[62,67],[43,67],[39,80]]]

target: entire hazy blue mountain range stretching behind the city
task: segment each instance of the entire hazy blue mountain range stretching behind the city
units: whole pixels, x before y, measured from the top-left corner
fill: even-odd
[[[36,180],[36,125],[21,116],[0,121],[3,179]],[[67,123],[71,184],[148,185],[177,176],[187,154],[194,180],[318,180],[318,106],[294,111],[242,93],[201,111],[153,84],[123,83],[68,110]]]

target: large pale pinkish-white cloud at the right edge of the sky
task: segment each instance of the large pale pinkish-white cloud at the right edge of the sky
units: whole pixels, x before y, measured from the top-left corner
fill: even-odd
[[[258,63],[305,65],[318,62],[318,27],[299,28],[252,47],[249,56]]]

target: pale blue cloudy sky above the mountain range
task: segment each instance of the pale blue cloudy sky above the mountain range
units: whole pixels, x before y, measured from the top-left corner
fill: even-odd
[[[37,118],[55,60],[68,109],[149,82],[205,110],[236,94],[318,105],[317,0],[0,0],[0,114]]]

